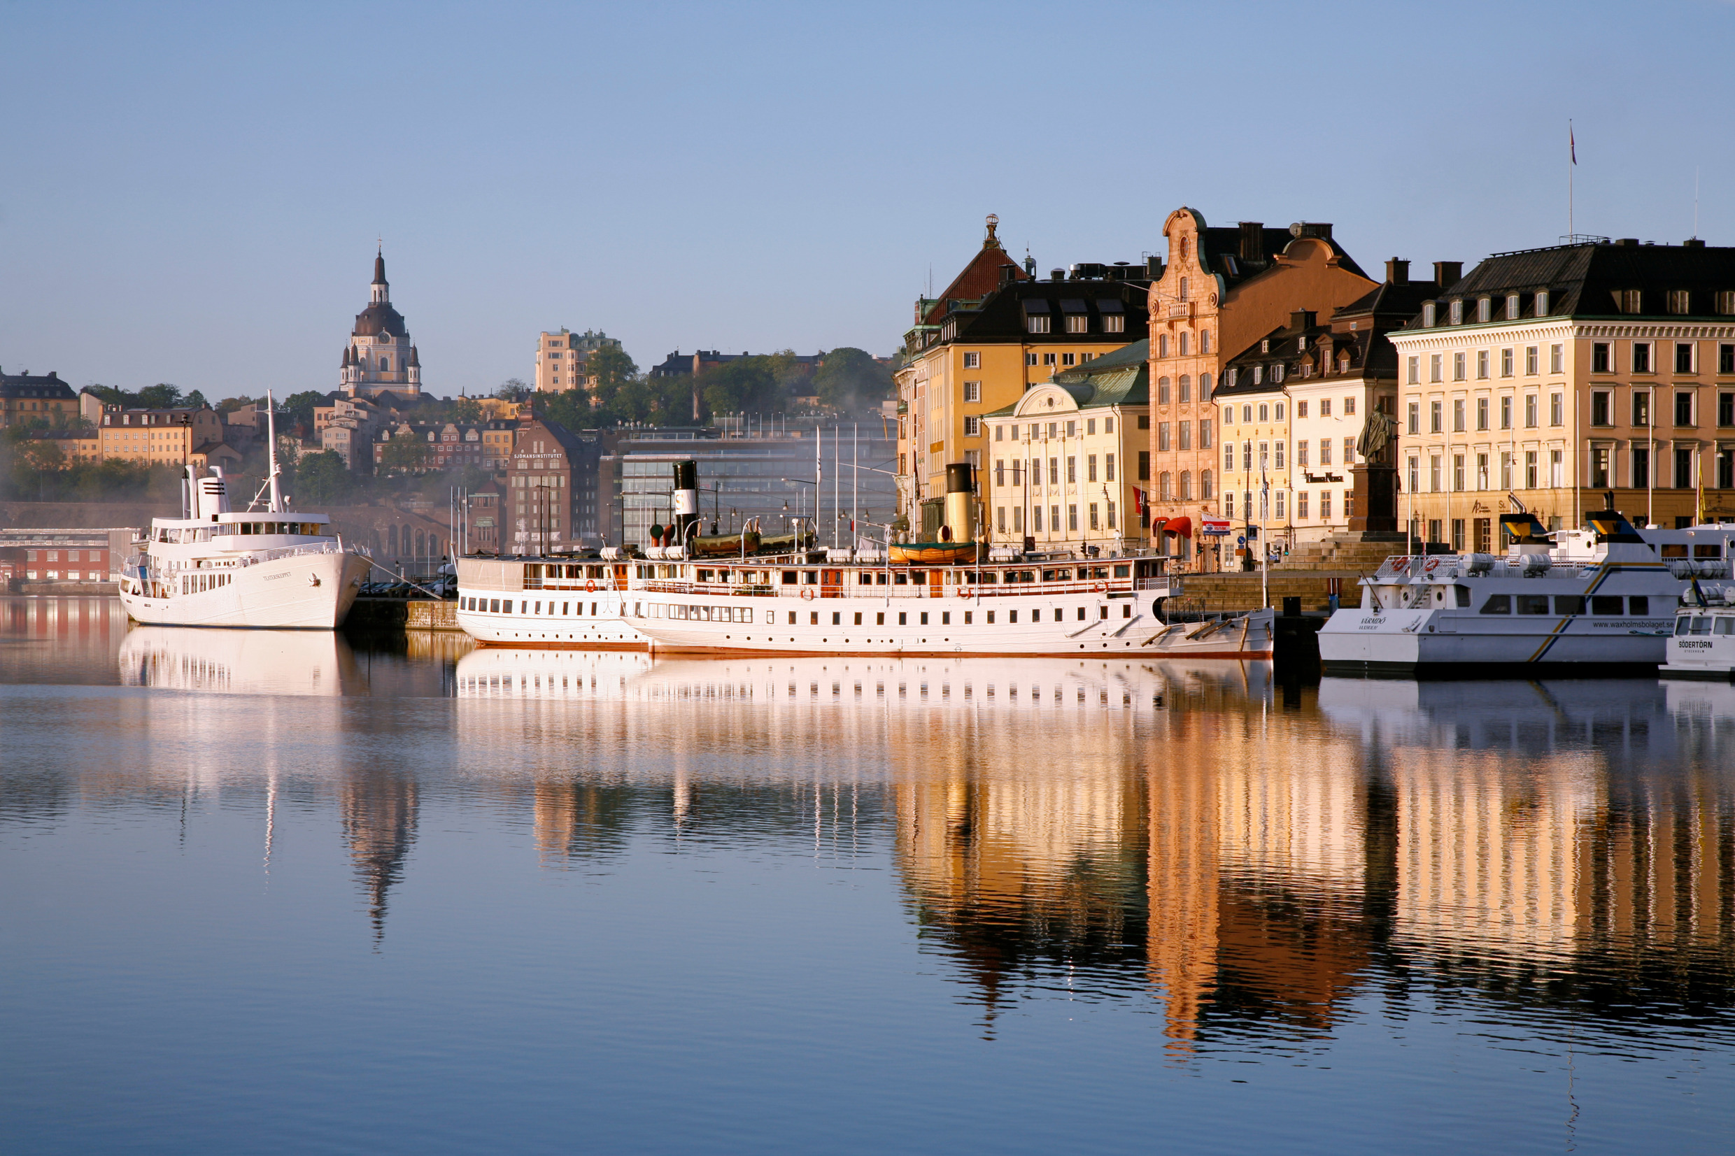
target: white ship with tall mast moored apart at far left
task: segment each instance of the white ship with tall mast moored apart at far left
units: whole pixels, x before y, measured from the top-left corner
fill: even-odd
[[[189,515],[153,518],[118,579],[120,600],[151,626],[321,629],[342,626],[373,567],[323,513],[291,513],[276,471],[265,510],[231,510],[220,468],[187,468]]]

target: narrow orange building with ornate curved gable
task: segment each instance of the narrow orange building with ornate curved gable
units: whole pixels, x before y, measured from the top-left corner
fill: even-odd
[[[1150,518],[1161,527],[1154,542],[1190,567],[1214,568],[1220,556],[1201,549],[1208,541],[1201,520],[1214,516],[1220,503],[1227,508],[1213,402],[1225,364],[1294,310],[1326,315],[1364,296],[1374,281],[1332,241],[1329,224],[1267,229],[1244,220],[1225,229],[1206,225],[1197,210],[1178,208],[1162,224],[1162,236],[1169,258],[1149,293],[1149,452],[1157,482]],[[1260,402],[1251,404],[1256,416]],[[1265,406],[1270,425],[1279,402]],[[1235,501],[1244,503],[1242,494]]]

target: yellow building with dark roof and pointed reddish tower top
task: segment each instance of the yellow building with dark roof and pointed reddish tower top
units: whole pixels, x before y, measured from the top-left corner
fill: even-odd
[[[968,265],[937,298],[916,302],[897,383],[899,508],[933,534],[946,466],[987,458],[985,414],[1032,386],[1145,336],[1154,265],[1083,263],[1046,281],[999,246],[998,218]]]

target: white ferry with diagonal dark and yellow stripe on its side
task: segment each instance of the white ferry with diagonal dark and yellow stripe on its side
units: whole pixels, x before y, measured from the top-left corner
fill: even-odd
[[[1523,678],[1652,672],[1681,591],[1726,577],[1735,527],[1634,530],[1619,513],[1549,536],[1527,513],[1494,555],[1388,558],[1362,579],[1362,605],[1320,629],[1326,674]]]

